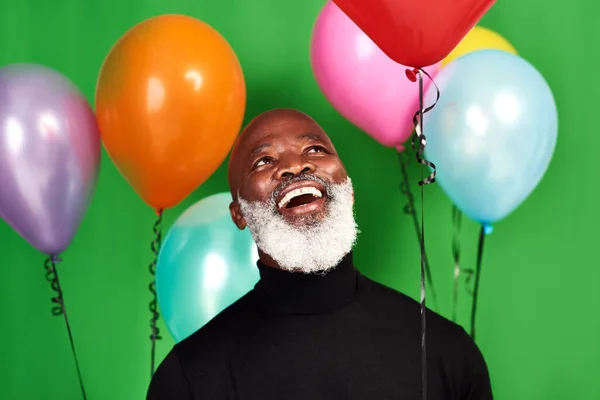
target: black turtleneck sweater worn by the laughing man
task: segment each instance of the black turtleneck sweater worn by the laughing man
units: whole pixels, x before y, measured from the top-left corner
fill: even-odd
[[[147,400],[420,400],[420,307],[361,275],[258,263],[253,290],[175,345]],[[428,400],[491,400],[486,364],[458,325],[427,313]]]

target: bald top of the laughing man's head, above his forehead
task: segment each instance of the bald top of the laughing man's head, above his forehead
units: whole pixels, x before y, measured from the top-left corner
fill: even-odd
[[[281,139],[288,139],[289,142],[289,139],[302,139],[303,136],[304,141],[308,141],[311,136],[323,141],[335,154],[333,144],[323,128],[301,111],[278,108],[254,117],[238,136],[229,159],[229,189],[233,199],[237,199],[240,186],[244,184],[244,176],[249,172],[249,160],[254,155],[261,150],[273,148],[273,142],[282,142]]]

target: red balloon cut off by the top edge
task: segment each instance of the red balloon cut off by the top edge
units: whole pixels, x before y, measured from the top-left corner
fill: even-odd
[[[423,68],[443,60],[496,0],[333,0],[392,60]]]

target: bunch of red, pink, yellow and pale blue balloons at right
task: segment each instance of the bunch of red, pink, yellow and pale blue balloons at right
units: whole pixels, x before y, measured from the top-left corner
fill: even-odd
[[[441,93],[424,116],[426,159],[454,204],[490,227],[523,202],[550,163],[558,123],[548,84],[501,35],[461,20],[466,11],[454,3],[429,1],[440,12],[427,15],[425,26],[407,24],[412,14],[403,2],[367,3],[335,0],[321,10],[311,40],[319,87],[347,120],[404,151],[419,109],[405,71],[423,67],[437,84],[424,82],[425,104]],[[468,3],[479,15],[490,2]]]

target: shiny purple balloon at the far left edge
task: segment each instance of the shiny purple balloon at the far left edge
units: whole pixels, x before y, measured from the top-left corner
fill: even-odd
[[[0,217],[43,253],[61,253],[99,167],[96,116],[71,81],[41,65],[0,68]]]

